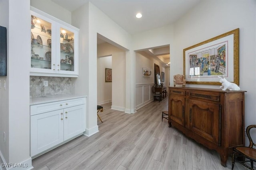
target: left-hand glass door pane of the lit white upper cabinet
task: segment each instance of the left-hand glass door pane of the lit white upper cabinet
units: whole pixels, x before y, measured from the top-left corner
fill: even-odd
[[[52,70],[51,61],[52,23],[31,15],[31,67],[50,72]]]

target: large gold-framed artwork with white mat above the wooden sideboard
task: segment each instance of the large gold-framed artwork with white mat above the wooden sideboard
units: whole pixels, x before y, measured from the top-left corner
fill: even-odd
[[[239,28],[183,50],[187,84],[219,85],[224,76],[239,85]]]

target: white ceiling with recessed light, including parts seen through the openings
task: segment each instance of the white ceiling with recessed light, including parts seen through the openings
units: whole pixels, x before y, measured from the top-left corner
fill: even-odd
[[[72,12],[87,2],[91,2],[104,14],[128,33],[136,34],[150,29],[170,25],[181,18],[201,0],[52,0]],[[135,15],[140,12],[142,18]],[[106,41],[98,38],[98,44]],[[170,50],[159,53],[162,47],[140,51],[162,63],[169,63]],[[170,49],[165,47],[165,49]],[[156,53],[156,51],[158,51]]]

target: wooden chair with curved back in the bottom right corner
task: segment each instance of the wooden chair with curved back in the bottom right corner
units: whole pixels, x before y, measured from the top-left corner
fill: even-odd
[[[239,162],[240,164],[246,166],[247,168],[253,170],[253,162],[256,162],[256,144],[253,143],[252,137],[250,135],[250,129],[256,128],[256,125],[250,125],[246,128],[246,134],[249,138],[250,145],[249,147],[234,147],[232,154],[232,169],[234,168],[235,162]],[[251,167],[249,167],[246,162],[251,163]]]

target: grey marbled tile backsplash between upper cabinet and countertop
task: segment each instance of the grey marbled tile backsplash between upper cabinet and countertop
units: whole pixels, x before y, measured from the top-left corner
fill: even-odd
[[[48,81],[47,87],[43,86],[44,80]],[[73,92],[74,84],[70,77],[30,76],[30,96],[32,98],[72,94]]]

